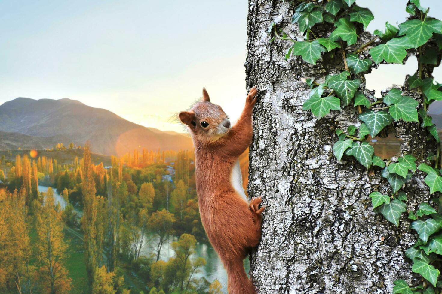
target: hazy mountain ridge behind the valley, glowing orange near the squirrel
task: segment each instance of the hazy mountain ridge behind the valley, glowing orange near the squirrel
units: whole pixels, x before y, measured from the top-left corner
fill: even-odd
[[[36,146],[37,142],[42,143],[39,140],[49,143],[57,136],[67,138],[76,145],[89,141],[93,152],[106,155],[122,155],[133,152],[135,148],[192,148],[191,139],[182,134],[152,131],[106,109],[94,108],[68,98],[34,100],[19,97],[5,102],[0,105],[0,131],[40,137],[33,138]],[[0,138],[3,141],[1,135]],[[26,142],[26,139],[23,140],[23,143]],[[66,144],[64,140],[61,142]],[[50,144],[53,145],[53,142]]]

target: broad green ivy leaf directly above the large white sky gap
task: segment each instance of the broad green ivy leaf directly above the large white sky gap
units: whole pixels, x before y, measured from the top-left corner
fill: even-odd
[[[408,37],[394,38],[385,44],[377,45],[370,49],[370,55],[375,63],[380,63],[382,60],[389,63],[401,63],[407,56],[405,49],[412,48],[413,44],[408,40]]]

